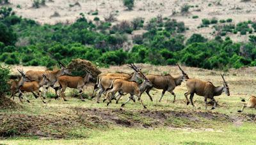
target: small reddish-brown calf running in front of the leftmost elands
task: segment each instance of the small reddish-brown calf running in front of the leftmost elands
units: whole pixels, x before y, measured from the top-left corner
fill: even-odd
[[[42,102],[45,103],[44,99],[42,98],[42,92],[39,89],[50,80],[47,78],[47,76],[45,76],[45,74],[42,74],[42,76],[43,76],[43,79],[39,83],[37,81],[24,82],[24,84],[20,86],[19,97],[21,98],[24,92],[31,92],[33,93],[33,95],[35,95],[34,92],[36,92],[37,95],[42,100]],[[38,97],[37,95],[35,95],[36,98]]]

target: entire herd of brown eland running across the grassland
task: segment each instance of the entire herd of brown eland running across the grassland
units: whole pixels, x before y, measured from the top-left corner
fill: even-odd
[[[20,102],[22,102],[22,96],[24,96],[26,101],[29,102],[26,95],[23,94],[24,92],[31,92],[35,98],[40,97],[42,102],[45,103],[45,97],[42,97],[42,91],[40,88],[45,86],[47,92],[48,88],[51,86],[54,88],[56,93],[55,99],[58,99],[60,96],[63,98],[63,100],[67,101],[67,99],[65,99],[65,90],[67,87],[69,87],[79,90],[81,100],[84,101],[82,97],[83,87],[90,82],[90,79],[93,78],[92,72],[86,69],[86,75],[84,77],[69,76],[71,72],[60,62],[59,64],[61,69],[58,69],[57,71],[27,71],[26,74],[24,74],[22,70],[18,69],[21,74],[19,80],[10,79],[10,81],[8,81],[11,92],[10,97],[13,97],[14,99],[14,96],[18,93]],[[188,74],[182,70],[179,64],[177,64],[177,66],[181,71],[181,75],[177,77],[174,77],[171,74],[145,75],[141,71],[141,68],[136,67],[134,64],[129,64],[127,66],[131,67],[134,72],[131,74],[127,74],[125,72],[102,72],[99,74],[97,76],[97,83],[95,84],[92,93],[92,99],[93,97],[96,97],[98,92],[97,103],[99,103],[100,97],[103,94],[106,96],[103,102],[108,100],[108,106],[111,103],[111,100],[116,100],[116,104],[118,104],[118,101],[123,95],[129,94],[129,98],[122,104],[121,107],[124,107],[125,104],[127,104],[127,102],[130,100],[135,102],[136,96],[138,100],[140,100],[141,105],[144,108],[147,108],[141,99],[142,93],[146,92],[150,100],[153,101],[152,96],[150,95],[150,90],[152,90],[152,88],[156,88],[158,90],[163,90],[159,102],[161,102],[163,99],[164,93],[166,91],[173,95],[173,102],[175,102],[176,95],[173,90],[175,90],[177,86],[181,85],[183,81],[186,82],[186,87],[188,90],[184,93],[187,105],[191,103],[191,105],[194,106],[193,97],[196,94],[204,97],[205,109],[207,109],[207,99],[211,99],[211,102],[213,102],[212,109],[215,109],[217,103],[214,99],[214,96],[221,95],[222,93],[226,93],[228,96],[230,95],[228,83],[225,81],[225,78],[222,74],[221,78],[223,81],[223,86],[214,86],[211,81],[202,81],[199,79],[189,78]],[[57,82],[59,86],[54,87]],[[60,90],[60,93],[58,93],[58,90]],[[190,95],[189,99],[188,95]],[[245,100],[242,101],[245,102]],[[245,107],[256,109],[256,97],[250,97],[247,104],[244,104],[242,110],[238,112],[243,112]],[[256,116],[254,120],[256,120]]]

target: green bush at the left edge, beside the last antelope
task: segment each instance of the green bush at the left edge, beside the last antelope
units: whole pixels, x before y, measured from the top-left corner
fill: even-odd
[[[8,81],[10,79],[10,68],[0,66],[0,97],[9,92]]]

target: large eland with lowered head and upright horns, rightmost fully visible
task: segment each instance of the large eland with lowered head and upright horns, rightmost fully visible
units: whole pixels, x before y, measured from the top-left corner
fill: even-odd
[[[221,78],[223,79],[223,86],[214,86],[210,81],[187,79],[186,86],[188,88],[188,92],[184,93],[187,100],[187,105],[189,104],[188,95],[190,94],[189,99],[191,101],[192,106],[194,106],[193,97],[194,94],[196,93],[196,95],[204,97],[205,109],[207,109],[207,99],[211,99],[212,102],[214,102],[214,106],[212,107],[212,109],[215,109],[216,100],[214,99],[214,96],[219,96],[223,92],[225,92],[228,96],[230,95],[227,81],[225,81],[224,76],[222,74]]]

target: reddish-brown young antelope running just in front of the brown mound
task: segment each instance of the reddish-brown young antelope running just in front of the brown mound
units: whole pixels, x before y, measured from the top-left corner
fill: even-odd
[[[58,82],[60,84],[60,87],[58,89],[61,88],[61,92],[60,92],[60,96],[67,101],[67,99],[65,99],[65,90],[67,87],[69,88],[77,88],[79,90],[79,94],[81,97],[81,100],[84,101],[82,93],[83,93],[83,87],[86,85],[86,83],[88,83],[90,81],[90,79],[92,79],[92,73],[90,71],[87,71],[86,75],[84,76],[84,78],[82,78],[81,76],[60,76],[58,78]],[[56,90],[56,88],[54,88]]]

